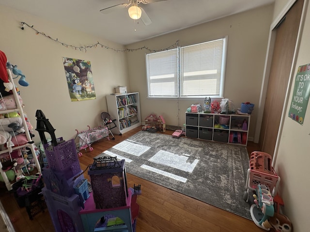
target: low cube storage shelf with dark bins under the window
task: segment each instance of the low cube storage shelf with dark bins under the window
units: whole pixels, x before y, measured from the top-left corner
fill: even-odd
[[[250,115],[186,112],[186,137],[246,146],[249,124]]]

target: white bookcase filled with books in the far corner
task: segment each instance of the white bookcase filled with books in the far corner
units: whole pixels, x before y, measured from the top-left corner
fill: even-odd
[[[141,126],[139,93],[107,95],[109,115],[121,133]]]

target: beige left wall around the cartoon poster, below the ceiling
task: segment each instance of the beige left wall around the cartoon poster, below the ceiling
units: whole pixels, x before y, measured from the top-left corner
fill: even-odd
[[[81,131],[86,130],[87,125],[100,125],[100,113],[107,111],[105,96],[112,93],[114,87],[129,86],[125,54],[100,46],[89,48],[87,52],[66,48],[42,35],[36,35],[28,27],[21,30],[22,21],[63,43],[75,46],[91,45],[97,41],[116,49],[122,49],[122,45],[0,7],[0,50],[12,64],[18,66],[30,83],[29,87],[17,85],[32,126],[36,128],[37,109],[41,109],[49,119],[56,129],[56,136],[62,136],[65,140],[76,136],[75,129]],[[62,57],[91,61],[96,100],[71,102]],[[40,141],[37,131],[34,134],[34,140]]]

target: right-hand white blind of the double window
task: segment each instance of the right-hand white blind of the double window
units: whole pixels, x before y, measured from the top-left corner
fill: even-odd
[[[180,48],[181,97],[219,95],[223,39]]]

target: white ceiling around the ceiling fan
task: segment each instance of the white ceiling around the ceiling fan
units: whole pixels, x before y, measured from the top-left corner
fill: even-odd
[[[152,1],[152,0],[146,0]],[[101,9],[128,0],[0,0],[6,5],[110,41],[130,44],[273,3],[275,0],[163,0],[140,3],[152,23],[133,20],[128,8],[109,14]],[[143,12],[142,12],[143,14]],[[36,22],[26,22],[33,25]],[[36,28],[38,29],[38,28]],[[44,29],[38,29],[43,32]]]

